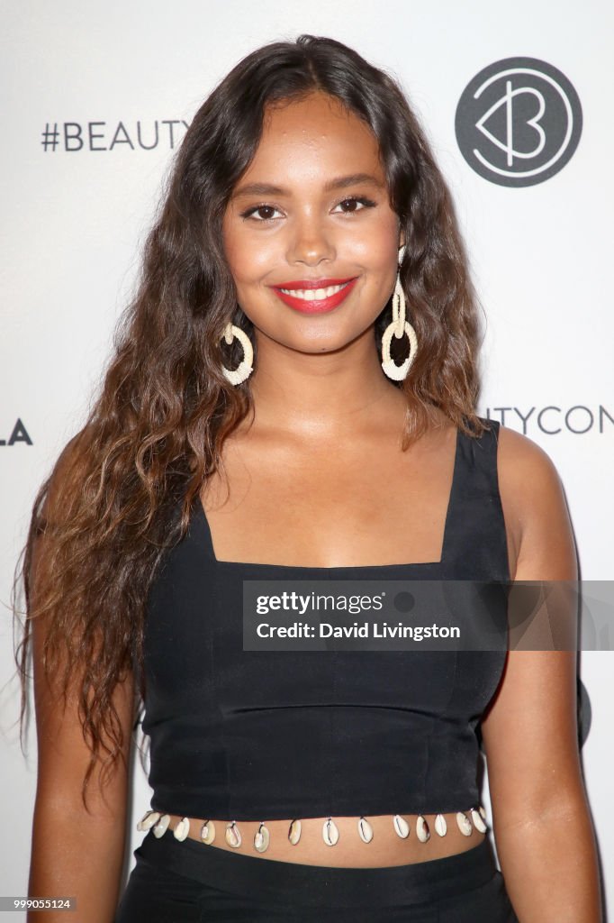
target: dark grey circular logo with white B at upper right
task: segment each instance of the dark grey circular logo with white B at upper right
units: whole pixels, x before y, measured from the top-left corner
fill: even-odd
[[[536,186],[571,160],[582,134],[582,106],[556,67],[537,58],[505,58],[467,84],[455,133],[466,162],[484,179]]]

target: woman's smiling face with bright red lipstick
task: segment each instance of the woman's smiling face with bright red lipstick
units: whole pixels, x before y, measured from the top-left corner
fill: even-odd
[[[222,233],[256,338],[306,353],[371,330],[404,243],[376,138],[322,93],[267,110]]]

